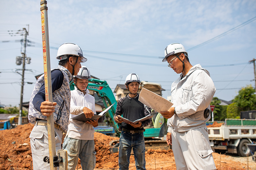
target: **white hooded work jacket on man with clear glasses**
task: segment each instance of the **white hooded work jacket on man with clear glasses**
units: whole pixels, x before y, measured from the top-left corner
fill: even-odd
[[[203,69],[200,64],[196,64],[188,74],[172,83],[171,92],[173,103],[177,115],[173,115],[167,121],[168,132],[172,128],[178,132],[184,132],[206,126],[205,122],[211,116],[204,118],[204,110],[210,109],[210,102],[216,88],[210,78],[210,73]]]

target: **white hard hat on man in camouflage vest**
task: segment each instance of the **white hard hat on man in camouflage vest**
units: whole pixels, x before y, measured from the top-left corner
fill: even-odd
[[[83,56],[82,49],[74,43],[66,42],[62,44],[58,49],[56,58],[61,61],[61,60],[67,59],[68,55],[75,55],[75,56],[81,57],[82,58],[81,63],[84,63],[87,61],[87,59],[84,58]]]

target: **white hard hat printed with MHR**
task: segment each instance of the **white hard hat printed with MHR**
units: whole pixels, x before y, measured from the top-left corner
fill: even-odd
[[[183,53],[183,52],[185,53],[185,56],[188,57],[188,53],[182,44],[180,44],[180,43],[170,44],[164,49],[164,59],[162,62],[167,61],[166,58],[169,57],[170,55],[174,55],[177,53]]]

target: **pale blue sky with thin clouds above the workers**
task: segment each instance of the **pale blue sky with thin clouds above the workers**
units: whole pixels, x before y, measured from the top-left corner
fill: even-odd
[[[57,48],[64,42],[79,45],[91,74],[114,91],[126,76],[137,73],[141,80],[160,83],[163,97],[171,94],[171,84],[178,78],[162,62],[164,49],[179,42],[188,51],[192,65],[207,69],[216,87],[214,97],[232,100],[240,88],[255,86],[253,64],[256,58],[256,21],[234,29],[256,16],[255,0],[127,0],[127,1],[47,1],[51,68],[58,66]],[[255,18],[254,18],[255,19]],[[28,26],[29,25],[29,29]],[[13,30],[29,31],[25,82],[35,83],[43,73],[40,1],[4,0],[0,6],[0,103],[18,106],[22,66],[22,36]],[[228,34],[198,48],[197,45],[218,35]],[[7,42],[5,42],[7,41]],[[100,53],[102,52],[102,53]],[[109,54],[116,53],[116,54]],[[119,55],[118,55],[119,54]],[[125,55],[120,55],[125,54]],[[29,69],[31,71],[29,71]],[[24,85],[23,101],[29,101],[35,84]]]

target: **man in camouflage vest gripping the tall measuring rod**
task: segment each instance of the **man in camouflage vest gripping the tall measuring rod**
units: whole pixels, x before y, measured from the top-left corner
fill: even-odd
[[[64,43],[58,49],[58,69],[51,70],[52,102],[45,101],[44,75],[36,81],[32,92],[28,120],[35,124],[30,133],[30,145],[33,159],[33,169],[50,169],[50,164],[44,162],[49,156],[47,116],[53,114],[56,151],[61,149],[62,134],[68,130],[70,108],[69,82],[81,68],[84,58],[81,48],[73,43]]]

